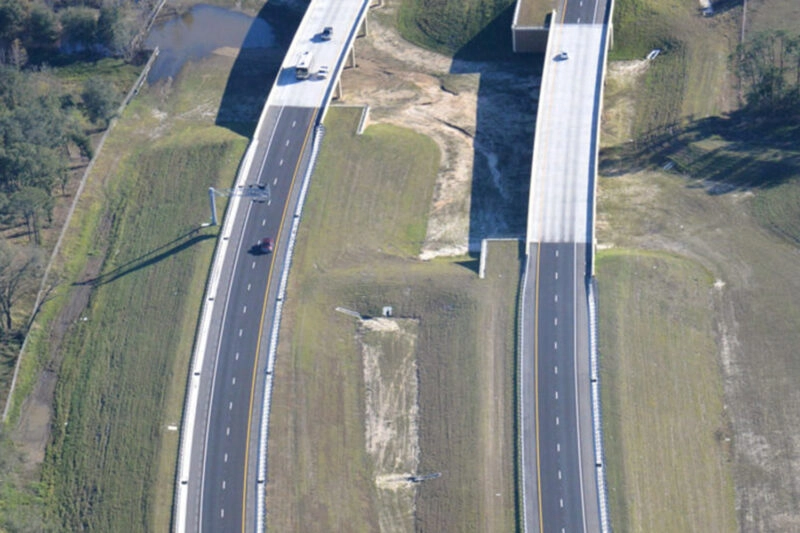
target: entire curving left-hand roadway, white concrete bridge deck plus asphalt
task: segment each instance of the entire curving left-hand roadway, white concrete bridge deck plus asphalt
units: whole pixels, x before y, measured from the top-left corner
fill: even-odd
[[[311,1],[229,191],[190,363],[175,532],[264,530],[272,370],[315,132],[340,91],[342,70],[355,62],[353,46],[373,3]],[[323,37],[326,27],[333,31]],[[297,61],[306,52],[308,77],[299,79]],[[268,194],[247,193],[255,188]],[[274,251],[254,253],[264,237],[274,239]]]

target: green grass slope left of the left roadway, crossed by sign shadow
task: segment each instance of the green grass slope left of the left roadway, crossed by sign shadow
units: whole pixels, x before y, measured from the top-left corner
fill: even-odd
[[[206,113],[230,67],[215,58],[187,67],[168,93],[143,90],[109,136],[76,210],[57,265],[66,282],[31,337],[21,387],[31,390],[34,361],[53,356],[56,312],[73,303],[80,283],[92,283],[58,356],[43,467],[62,529],[169,527],[178,433],[167,425],[180,422],[216,234],[199,225],[208,219],[208,186],[230,183],[247,143]],[[93,262],[102,268],[87,280]]]

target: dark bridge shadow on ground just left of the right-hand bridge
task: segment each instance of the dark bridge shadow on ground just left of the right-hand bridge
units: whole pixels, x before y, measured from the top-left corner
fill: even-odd
[[[520,237],[526,231],[542,56],[513,53],[513,14],[511,4],[456,52],[450,68],[450,74],[480,75],[470,251],[480,249],[481,239]]]

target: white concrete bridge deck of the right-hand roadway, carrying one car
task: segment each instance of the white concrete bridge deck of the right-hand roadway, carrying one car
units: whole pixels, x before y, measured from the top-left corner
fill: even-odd
[[[539,96],[528,242],[590,242],[604,27],[557,24]],[[565,51],[567,59],[557,59]]]

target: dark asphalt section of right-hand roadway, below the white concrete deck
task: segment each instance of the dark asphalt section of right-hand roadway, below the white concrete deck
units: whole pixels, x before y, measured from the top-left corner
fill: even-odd
[[[531,244],[523,312],[528,531],[599,529],[589,398],[586,244]],[[582,385],[581,383],[584,383]],[[535,391],[535,394],[533,393]],[[588,441],[587,441],[588,439]],[[588,444],[588,445],[587,445]]]

